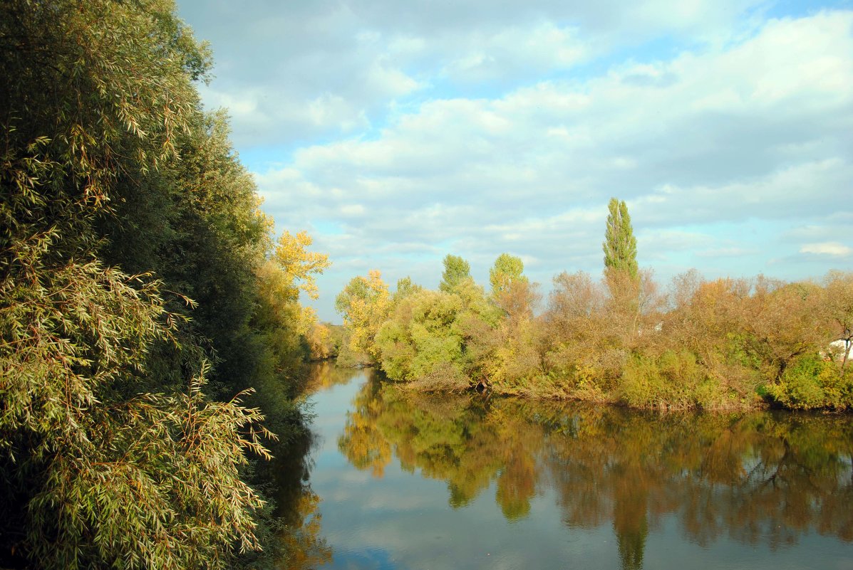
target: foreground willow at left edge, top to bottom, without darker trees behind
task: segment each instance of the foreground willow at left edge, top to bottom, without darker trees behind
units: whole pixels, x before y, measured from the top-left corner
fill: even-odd
[[[201,122],[209,58],[174,11],[0,3],[4,567],[223,567],[258,547],[263,502],[239,465],[266,453],[259,413],[203,395],[200,348],[167,306],[189,299],[99,258],[122,185],[169,176]]]

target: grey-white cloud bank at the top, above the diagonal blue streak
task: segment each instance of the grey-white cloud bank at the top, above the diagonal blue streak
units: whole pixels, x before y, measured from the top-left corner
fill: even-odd
[[[178,2],[215,49],[206,104],[233,104],[244,147],[350,132],[432,83],[517,86],[662,33],[719,41],[760,4]],[[318,101],[334,112],[318,117]]]

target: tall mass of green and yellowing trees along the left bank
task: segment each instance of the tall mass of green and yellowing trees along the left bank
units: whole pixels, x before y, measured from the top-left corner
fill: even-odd
[[[171,0],[0,4],[0,567],[261,564],[328,259],[275,239],[210,68]]]

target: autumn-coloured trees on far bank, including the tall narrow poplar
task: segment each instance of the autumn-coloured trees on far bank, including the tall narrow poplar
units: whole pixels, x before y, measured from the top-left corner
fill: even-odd
[[[560,273],[542,307],[517,256],[490,268],[490,291],[459,256],[438,291],[378,271],[336,300],[348,351],[423,390],[488,387],[500,394],[641,408],[853,406],[853,273],[820,282],[704,279],[659,285],[636,262],[623,201],[612,199],[604,272]]]

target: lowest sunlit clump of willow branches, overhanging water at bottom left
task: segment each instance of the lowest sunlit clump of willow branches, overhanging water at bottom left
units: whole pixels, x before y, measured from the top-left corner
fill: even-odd
[[[269,457],[252,428],[262,417],[239,400],[206,401],[203,383],[91,414],[80,423],[88,445],[55,450],[28,505],[40,566],[223,567],[232,549],[258,548],[263,501],[238,466],[244,448]]]

